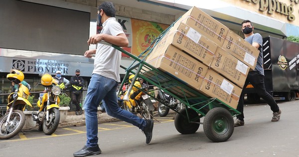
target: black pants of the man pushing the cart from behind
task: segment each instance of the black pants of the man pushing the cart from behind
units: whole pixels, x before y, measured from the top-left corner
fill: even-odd
[[[243,89],[246,88],[246,86],[248,85],[248,83],[250,82],[255,91],[257,92],[257,94],[263,98],[267,104],[271,107],[271,110],[273,112],[278,112],[279,111],[279,107],[276,104],[275,100],[273,99],[273,97],[266,91],[265,88],[265,83],[264,83],[264,77],[263,75],[261,75],[259,72],[257,71],[250,71],[248,73],[247,79],[245,81],[244,87]],[[244,109],[244,90],[242,91],[242,94],[240,96],[240,100],[237,106],[237,110],[239,112],[241,112],[241,115],[237,116],[237,119],[244,121],[244,113],[243,113],[243,109]]]

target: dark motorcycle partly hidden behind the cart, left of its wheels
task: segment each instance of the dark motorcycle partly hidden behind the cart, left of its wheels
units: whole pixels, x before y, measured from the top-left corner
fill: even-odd
[[[181,110],[185,107],[183,103],[181,103],[177,99],[173,98],[171,95],[168,95],[168,94],[164,93],[162,90],[158,90],[157,99],[159,100],[158,115],[160,117],[167,116],[167,114],[169,112],[169,107],[171,107],[171,108],[173,108],[174,110],[177,110],[177,111],[179,111],[179,110]],[[166,105],[164,105],[161,102],[165,103],[169,107],[167,107]]]

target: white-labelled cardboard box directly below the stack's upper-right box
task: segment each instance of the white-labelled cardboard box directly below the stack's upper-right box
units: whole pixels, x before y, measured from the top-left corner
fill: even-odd
[[[241,88],[243,88],[250,70],[246,64],[226,52],[221,47],[217,48],[215,59],[210,67]]]

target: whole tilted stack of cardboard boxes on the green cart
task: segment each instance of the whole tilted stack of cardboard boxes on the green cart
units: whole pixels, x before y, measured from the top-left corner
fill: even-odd
[[[222,23],[192,7],[155,45],[146,62],[236,108],[258,54]]]

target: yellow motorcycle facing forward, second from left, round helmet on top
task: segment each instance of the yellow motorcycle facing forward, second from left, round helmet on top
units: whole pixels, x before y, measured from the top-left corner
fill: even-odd
[[[33,120],[38,124],[38,130],[43,131],[45,135],[53,134],[60,120],[59,95],[64,93],[57,85],[57,81],[48,73],[41,77],[41,85],[45,87],[46,93],[37,101],[39,110],[32,113]]]

